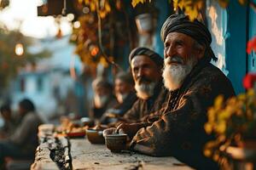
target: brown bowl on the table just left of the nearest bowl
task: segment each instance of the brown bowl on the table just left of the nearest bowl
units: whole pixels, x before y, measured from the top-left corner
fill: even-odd
[[[86,136],[91,144],[104,144],[105,142],[103,131],[101,129],[87,129]]]

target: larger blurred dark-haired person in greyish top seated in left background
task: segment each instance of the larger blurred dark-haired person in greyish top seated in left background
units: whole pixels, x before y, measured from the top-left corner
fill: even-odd
[[[32,158],[38,146],[38,126],[42,123],[29,99],[19,103],[20,125],[9,138],[0,140],[0,168],[6,156]]]

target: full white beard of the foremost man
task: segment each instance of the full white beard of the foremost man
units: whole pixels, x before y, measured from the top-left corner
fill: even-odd
[[[185,77],[189,75],[189,72],[192,70],[196,63],[195,57],[191,57],[187,64],[170,64],[171,58],[168,57],[165,59],[165,67],[162,74],[164,78],[165,87],[169,91],[176,90],[180,88]]]

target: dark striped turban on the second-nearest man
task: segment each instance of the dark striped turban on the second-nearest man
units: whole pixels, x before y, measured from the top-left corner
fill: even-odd
[[[136,55],[146,55],[149,59],[153,60],[156,65],[159,65],[160,67],[164,65],[164,59],[160,56],[160,54],[157,54],[148,48],[134,48],[129,55],[130,64],[131,59],[133,59]]]

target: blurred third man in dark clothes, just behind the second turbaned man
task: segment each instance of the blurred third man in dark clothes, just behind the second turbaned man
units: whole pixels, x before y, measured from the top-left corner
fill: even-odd
[[[102,123],[116,122],[115,117],[123,116],[137,100],[131,72],[121,71],[114,77],[114,94],[119,104],[105,112]]]

